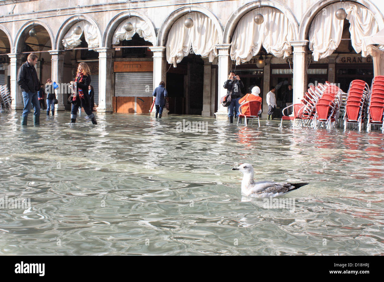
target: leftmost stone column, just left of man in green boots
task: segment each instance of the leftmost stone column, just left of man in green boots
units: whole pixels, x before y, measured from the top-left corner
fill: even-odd
[[[11,97],[12,97],[12,109],[13,110],[22,110],[24,109],[24,102],[22,91],[19,84],[17,83],[17,74],[20,66],[22,65],[21,57],[22,54],[8,54],[10,58],[10,66],[8,71],[11,76]]]

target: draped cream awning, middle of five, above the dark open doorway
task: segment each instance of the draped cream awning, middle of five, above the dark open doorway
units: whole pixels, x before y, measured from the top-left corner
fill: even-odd
[[[190,13],[190,18],[194,21],[191,28],[184,26],[186,18],[188,14],[175,21],[169,31],[166,44],[168,63],[174,66],[180,63],[188,55],[191,45],[195,54],[209,58],[212,62],[217,56],[215,45],[219,43],[219,31],[213,21],[202,13]]]

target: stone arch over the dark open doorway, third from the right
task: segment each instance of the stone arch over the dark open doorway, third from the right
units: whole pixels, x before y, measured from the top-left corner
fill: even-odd
[[[178,8],[177,10],[174,10],[172,13],[170,13],[167,18],[163,21],[161,24],[161,27],[159,29],[159,33],[157,34],[157,46],[165,46],[167,42],[167,37],[170,28],[172,27],[173,23],[177,21],[180,17],[184,16],[185,14],[190,12],[199,12],[207,17],[209,17],[214,25],[216,26],[217,30],[219,31],[219,43],[223,43],[223,28],[218,20],[218,18],[209,10],[202,8],[200,6],[195,5],[186,5],[183,7]]]

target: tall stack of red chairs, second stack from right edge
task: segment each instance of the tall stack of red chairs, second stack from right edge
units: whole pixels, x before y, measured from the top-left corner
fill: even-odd
[[[357,124],[359,131],[364,127],[367,112],[369,86],[365,81],[355,79],[349,84],[344,109],[344,130],[348,124]]]

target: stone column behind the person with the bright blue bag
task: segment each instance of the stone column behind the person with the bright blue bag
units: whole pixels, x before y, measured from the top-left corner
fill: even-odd
[[[67,92],[69,91],[69,89],[63,84],[64,52],[61,50],[51,50],[49,51],[49,53],[52,56],[51,79],[59,85],[59,88],[55,91],[58,101],[58,104],[55,106],[55,108],[56,110],[65,110],[64,101],[67,100]],[[42,83],[45,84],[45,81],[43,81]]]

